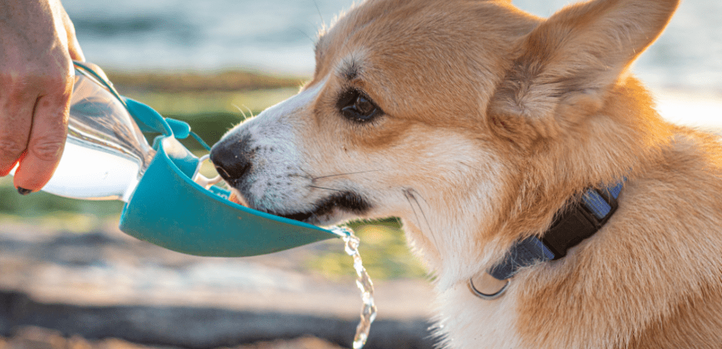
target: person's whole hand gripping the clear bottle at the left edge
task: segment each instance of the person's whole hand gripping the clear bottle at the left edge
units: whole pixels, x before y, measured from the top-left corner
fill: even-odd
[[[72,60],[84,61],[60,0],[0,0],[0,177],[40,190],[65,146]]]

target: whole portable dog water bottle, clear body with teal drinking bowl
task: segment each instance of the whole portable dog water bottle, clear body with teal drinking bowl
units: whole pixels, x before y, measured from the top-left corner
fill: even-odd
[[[227,200],[230,192],[207,185],[201,160],[178,142],[191,135],[209,149],[188,124],[121,97],[90,63],[75,63],[68,129],[61,162],[43,190],[125,201],[120,229],[138,239],[190,255],[242,257],[339,237]],[[142,131],[160,133],[154,146]]]

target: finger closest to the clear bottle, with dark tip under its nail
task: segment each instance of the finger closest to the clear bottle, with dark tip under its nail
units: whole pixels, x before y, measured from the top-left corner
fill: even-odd
[[[65,147],[70,91],[40,97],[32,116],[27,150],[15,172],[14,185],[40,190],[53,176]]]

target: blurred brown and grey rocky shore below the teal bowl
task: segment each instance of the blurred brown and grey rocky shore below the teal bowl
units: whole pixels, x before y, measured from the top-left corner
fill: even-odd
[[[127,237],[0,226],[0,348],[348,348],[353,280],[300,268],[322,242],[274,255],[193,257]],[[372,275],[373,277],[373,275]],[[376,283],[365,348],[433,348],[425,280]]]

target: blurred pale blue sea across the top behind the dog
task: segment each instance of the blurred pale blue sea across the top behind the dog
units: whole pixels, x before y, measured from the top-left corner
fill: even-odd
[[[442,0],[443,1],[443,0]],[[515,0],[549,17],[570,0]],[[351,0],[64,0],[88,61],[127,71],[310,76],[318,29]],[[722,94],[722,1],[686,0],[633,67],[653,87]]]

